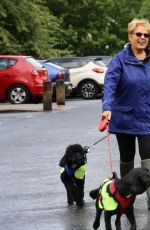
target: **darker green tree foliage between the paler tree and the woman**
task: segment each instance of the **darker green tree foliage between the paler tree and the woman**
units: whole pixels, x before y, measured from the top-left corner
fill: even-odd
[[[127,42],[127,24],[141,7],[135,0],[47,0],[65,31],[59,49],[75,55],[114,54]]]

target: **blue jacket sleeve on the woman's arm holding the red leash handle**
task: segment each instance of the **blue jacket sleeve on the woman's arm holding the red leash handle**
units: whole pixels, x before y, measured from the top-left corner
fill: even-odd
[[[118,55],[114,56],[109,64],[104,80],[104,96],[102,99],[102,110],[110,110],[114,100],[117,86],[122,73],[121,62]]]

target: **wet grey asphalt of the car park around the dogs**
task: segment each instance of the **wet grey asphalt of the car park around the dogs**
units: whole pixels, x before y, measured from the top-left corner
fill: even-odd
[[[1,106],[1,105],[0,105]],[[97,130],[101,100],[68,100],[52,111],[0,113],[0,230],[92,230],[95,204],[89,191],[111,175],[105,133]],[[69,207],[60,181],[59,160],[69,144],[88,145],[85,206]],[[119,153],[110,136],[113,170],[119,174]],[[136,166],[140,167],[138,149]],[[138,230],[150,229],[146,194],[137,197]],[[114,217],[112,219],[113,229]],[[122,217],[122,229],[129,223]],[[104,230],[102,215],[101,226]]]

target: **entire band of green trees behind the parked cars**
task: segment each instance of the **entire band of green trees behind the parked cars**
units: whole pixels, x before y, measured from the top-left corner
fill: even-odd
[[[1,0],[0,52],[38,58],[113,55],[127,24],[149,18],[148,0]]]

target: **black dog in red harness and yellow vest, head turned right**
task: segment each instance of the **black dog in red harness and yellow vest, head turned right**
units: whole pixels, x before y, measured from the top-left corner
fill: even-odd
[[[90,192],[92,199],[96,199],[96,217],[93,228],[99,228],[100,217],[104,210],[106,230],[112,230],[112,215],[117,215],[115,221],[116,229],[121,230],[120,218],[123,213],[126,214],[131,224],[130,230],[135,230],[135,197],[144,193],[149,187],[150,172],[144,168],[135,168],[121,179],[113,176],[105,180],[98,189]]]

